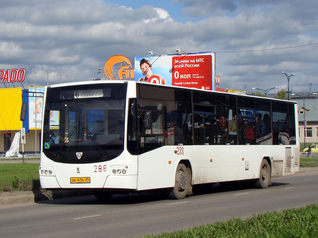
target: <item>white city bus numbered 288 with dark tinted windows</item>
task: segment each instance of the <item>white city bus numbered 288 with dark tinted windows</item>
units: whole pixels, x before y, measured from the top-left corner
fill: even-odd
[[[52,119],[55,118],[55,119]],[[135,81],[45,87],[40,183],[97,198],[252,182],[299,169],[296,102]],[[204,186],[202,186],[204,187]]]

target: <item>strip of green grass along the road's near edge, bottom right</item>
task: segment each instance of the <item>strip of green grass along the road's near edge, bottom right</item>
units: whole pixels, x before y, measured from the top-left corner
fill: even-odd
[[[267,212],[242,220],[233,218],[184,231],[145,235],[144,238],[315,238],[318,204]]]

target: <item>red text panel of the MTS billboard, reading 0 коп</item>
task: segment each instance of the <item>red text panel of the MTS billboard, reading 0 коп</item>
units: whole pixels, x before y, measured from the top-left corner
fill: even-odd
[[[172,57],[172,85],[211,90],[212,56]]]

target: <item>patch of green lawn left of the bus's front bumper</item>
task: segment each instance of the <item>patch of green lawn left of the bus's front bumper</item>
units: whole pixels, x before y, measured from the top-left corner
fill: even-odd
[[[0,191],[31,191],[40,188],[39,163],[0,164]]]

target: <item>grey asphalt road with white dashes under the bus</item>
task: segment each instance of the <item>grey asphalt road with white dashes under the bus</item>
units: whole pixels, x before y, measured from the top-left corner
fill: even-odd
[[[167,200],[163,195],[93,195],[0,206],[0,237],[139,237],[246,218],[317,203],[318,172],[273,178],[267,189],[215,186],[209,194]]]

